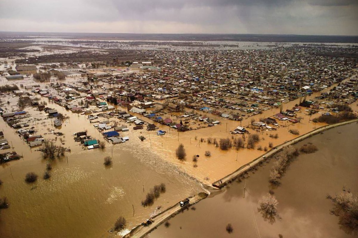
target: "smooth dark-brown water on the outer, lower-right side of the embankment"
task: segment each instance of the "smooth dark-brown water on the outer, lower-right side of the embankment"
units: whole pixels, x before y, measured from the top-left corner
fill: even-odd
[[[318,151],[300,154],[287,169],[281,185],[273,189],[279,202],[281,219],[274,224],[263,220],[257,212],[258,200],[269,189],[269,173],[274,163],[271,159],[246,180],[237,181],[214,192],[195,205],[195,210],[185,210],[169,220],[169,227],[161,225],[149,234],[150,238],[162,237],[357,237],[340,229],[338,217],[330,215],[333,203],[326,199],[342,187],[358,193],[357,123],[344,125],[315,135],[294,147],[313,143]],[[215,195],[216,193],[216,195]],[[233,233],[226,232],[232,224]]]

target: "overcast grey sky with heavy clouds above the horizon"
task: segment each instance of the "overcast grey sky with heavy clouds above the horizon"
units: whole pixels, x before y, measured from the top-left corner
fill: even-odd
[[[358,35],[358,0],[0,0],[0,31]]]

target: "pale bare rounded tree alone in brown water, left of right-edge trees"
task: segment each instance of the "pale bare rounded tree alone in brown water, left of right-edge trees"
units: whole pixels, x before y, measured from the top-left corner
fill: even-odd
[[[261,213],[263,219],[273,224],[276,221],[276,217],[278,217],[277,205],[279,204],[275,196],[267,193],[266,195],[263,195],[258,204],[259,207],[257,210]]]

